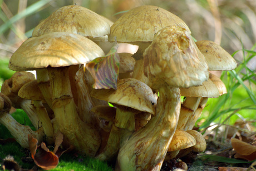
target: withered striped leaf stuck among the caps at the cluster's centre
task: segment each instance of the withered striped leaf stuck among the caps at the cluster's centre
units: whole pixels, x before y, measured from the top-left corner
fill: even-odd
[[[117,44],[110,49],[104,57],[99,57],[86,64],[86,69],[91,73],[95,89],[117,88],[120,58],[117,53]]]

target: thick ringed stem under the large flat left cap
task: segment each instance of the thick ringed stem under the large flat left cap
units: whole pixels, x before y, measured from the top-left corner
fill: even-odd
[[[52,88],[52,108],[60,132],[66,135],[76,149],[93,157],[100,147],[100,134],[95,128],[82,122],[72,97],[68,68],[49,68]]]

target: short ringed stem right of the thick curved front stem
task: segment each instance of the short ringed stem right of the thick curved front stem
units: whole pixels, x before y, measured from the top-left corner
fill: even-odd
[[[198,108],[201,98],[198,97],[186,97],[184,103],[181,104],[180,117],[177,125],[177,129],[185,130],[190,121],[189,118],[193,117],[193,113]]]

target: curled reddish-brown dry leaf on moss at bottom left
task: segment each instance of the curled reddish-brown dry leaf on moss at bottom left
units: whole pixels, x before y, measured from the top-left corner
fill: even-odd
[[[31,157],[38,167],[45,170],[50,170],[58,165],[58,157],[46,147],[45,143],[41,143],[41,146],[37,146],[37,139],[32,135],[28,135],[29,150]],[[36,150],[38,150],[36,152]]]

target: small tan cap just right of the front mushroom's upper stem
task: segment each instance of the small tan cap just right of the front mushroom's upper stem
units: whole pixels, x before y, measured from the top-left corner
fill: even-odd
[[[208,97],[217,98],[219,97],[219,89],[210,79],[211,74],[209,74],[209,79],[203,82],[202,86],[193,86],[189,88],[180,88],[180,95],[186,97]]]

